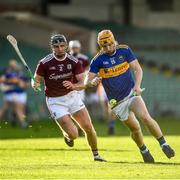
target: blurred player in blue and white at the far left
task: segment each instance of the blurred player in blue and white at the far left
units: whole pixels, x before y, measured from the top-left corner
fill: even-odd
[[[15,59],[9,61],[9,66],[1,74],[0,83],[4,100],[4,104],[0,109],[0,120],[2,120],[6,112],[11,110],[12,116],[16,116],[21,128],[27,128],[28,124],[25,121],[25,114],[28,81]],[[16,124],[14,121],[15,119],[13,118],[12,125]]]

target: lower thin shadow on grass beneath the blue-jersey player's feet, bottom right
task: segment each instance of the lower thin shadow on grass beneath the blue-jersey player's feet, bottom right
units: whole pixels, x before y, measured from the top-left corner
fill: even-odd
[[[155,162],[155,163],[144,163],[144,162],[129,162],[129,161],[107,161],[107,163],[116,163],[116,164],[150,164],[150,165],[170,165],[177,166],[180,165],[179,162]]]

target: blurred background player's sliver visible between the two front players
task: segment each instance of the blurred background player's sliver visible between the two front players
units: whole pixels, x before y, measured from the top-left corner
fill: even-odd
[[[99,97],[100,105],[103,110],[102,112],[103,118],[107,121],[107,125],[108,125],[107,134],[114,135],[115,134],[115,115],[113,115],[111,111],[106,92],[101,83],[97,87],[97,95]]]

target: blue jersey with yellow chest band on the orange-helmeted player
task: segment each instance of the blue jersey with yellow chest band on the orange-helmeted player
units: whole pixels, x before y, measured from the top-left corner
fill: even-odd
[[[118,45],[112,55],[99,53],[92,59],[89,71],[102,77],[109,101],[124,99],[134,87],[129,63],[135,59],[136,56],[126,45]]]

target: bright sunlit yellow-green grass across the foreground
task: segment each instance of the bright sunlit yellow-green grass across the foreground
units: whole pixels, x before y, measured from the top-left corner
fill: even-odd
[[[150,136],[145,142],[155,164],[144,164],[127,136],[100,137],[100,154],[108,162],[94,162],[84,137],[69,148],[63,138],[0,141],[0,179],[178,179],[180,136],[166,136],[176,151],[167,159]]]

